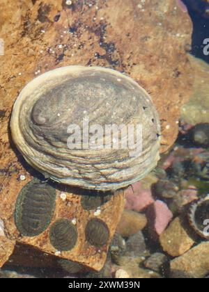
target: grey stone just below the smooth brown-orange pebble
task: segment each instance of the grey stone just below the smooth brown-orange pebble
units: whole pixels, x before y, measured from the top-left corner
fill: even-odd
[[[146,244],[144,241],[144,235],[141,231],[137,232],[128,238],[126,242],[126,254],[130,254],[134,257],[144,254],[146,252]]]

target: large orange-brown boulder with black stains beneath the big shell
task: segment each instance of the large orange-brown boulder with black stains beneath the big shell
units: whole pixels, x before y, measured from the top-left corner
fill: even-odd
[[[190,43],[192,23],[189,16],[174,9],[174,0],[152,4],[147,1],[143,6],[141,10],[134,0],[108,3],[101,0],[98,8],[94,4],[89,7],[84,1],[75,1],[70,7],[64,1],[45,0],[44,4],[41,0],[1,1],[0,35],[4,55],[0,56],[0,213],[3,211],[8,238],[54,253],[49,246],[48,229],[35,238],[20,238],[13,222],[17,194],[38,174],[16,151],[8,123],[18,93],[38,74],[75,64],[124,71],[150,93],[157,106],[162,120],[162,152],[176,140],[179,109],[192,88],[191,68],[184,51],[185,44]],[[179,26],[181,22],[184,24]],[[20,175],[25,175],[26,181],[20,180]],[[81,211],[75,193],[69,192],[68,200],[73,206],[70,213],[60,201],[58,191],[54,218],[71,218],[76,214],[83,234],[88,212]],[[123,195],[118,195],[104,211],[111,234],[122,209]],[[72,259],[77,259],[75,254],[79,254],[84,264],[100,269],[106,251],[102,251],[102,256],[95,255],[95,250],[85,250],[84,246],[81,252],[83,242],[84,238],[79,241]],[[71,258],[71,255],[64,252],[61,257]]]

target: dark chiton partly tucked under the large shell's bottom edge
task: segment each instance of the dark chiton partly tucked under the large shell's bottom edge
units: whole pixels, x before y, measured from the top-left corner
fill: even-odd
[[[84,190],[81,197],[81,204],[84,210],[97,209],[107,203],[113,194],[111,192],[101,192],[98,190]]]

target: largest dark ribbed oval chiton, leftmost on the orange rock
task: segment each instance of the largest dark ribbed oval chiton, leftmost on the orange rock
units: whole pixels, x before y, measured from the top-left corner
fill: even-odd
[[[15,224],[22,236],[37,236],[47,229],[55,208],[56,190],[38,179],[26,184],[17,197]]]

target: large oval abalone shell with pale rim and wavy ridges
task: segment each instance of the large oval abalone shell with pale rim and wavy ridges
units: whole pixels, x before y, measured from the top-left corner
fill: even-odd
[[[103,129],[107,124],[141,124],[141,155],[130,156],[128,148],[69,149],[68,127],[82,128],[85,120],[89,127],[99,124]],[[102,67],[61,67],[38,76],[15,102],[11,131],[33,168],[82,188],[128,186],[159,160],[160,121],[150,96],[130,77]]]

